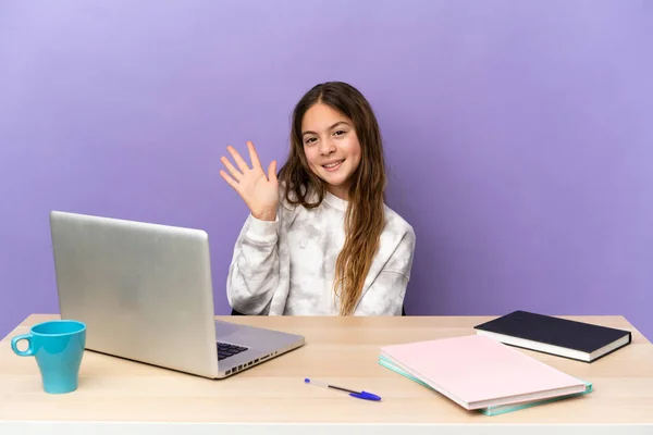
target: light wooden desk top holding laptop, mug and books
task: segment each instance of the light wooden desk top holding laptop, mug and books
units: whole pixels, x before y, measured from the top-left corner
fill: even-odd
[[[594,391],[488,417],[377,363],[379,347],[473,334],[488,316],[226,316],[298,333],[306,345],[222,381],[87,351],[79,388],[42,391],[34,358],[10,338],[57,319],[34,314],[0,341],[0,434],[653,434],[653,345],[621,316],[577,316],[632,331],[632,344],[594,363],[521,350],[593,383]],[[358,400],[304,384],[305,377],[379,394]],[[528,425],[528,427],[523,427]],[[618,431],[615,430],[618,426]]]

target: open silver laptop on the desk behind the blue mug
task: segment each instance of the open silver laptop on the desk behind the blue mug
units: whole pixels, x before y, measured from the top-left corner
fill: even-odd
[[[59,309],[89,350],[223,378],[304,345],[301,335],[217,321],[201,229],[50,212]]]

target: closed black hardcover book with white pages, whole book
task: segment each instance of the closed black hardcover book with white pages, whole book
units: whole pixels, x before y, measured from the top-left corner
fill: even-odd
[[[475,330],[506,345],[584,362],[593,362],[632,339],[629,331],[521,310],[476,325]]]

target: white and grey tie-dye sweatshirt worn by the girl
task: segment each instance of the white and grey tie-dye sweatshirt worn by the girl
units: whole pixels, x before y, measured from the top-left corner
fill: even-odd
[[[243,314],[337,315],[335,261],[344,246],[347,201],[326,194],[308,210],[283,200],[276,220],[245,221],[226,281]],[[415,251],[412,227],[385,206],[385,228],[354,315],[401,315]]]

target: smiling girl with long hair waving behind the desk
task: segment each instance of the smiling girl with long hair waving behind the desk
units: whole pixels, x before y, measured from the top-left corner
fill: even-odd
[[[341,82],[315,86],[293,113],[291,151],[276,175],[251,166],[220,175],[250,210],[229,270],[230,304],[244,314],[401,315],[415,233],[384,203],[379,125],[370,104]]]

